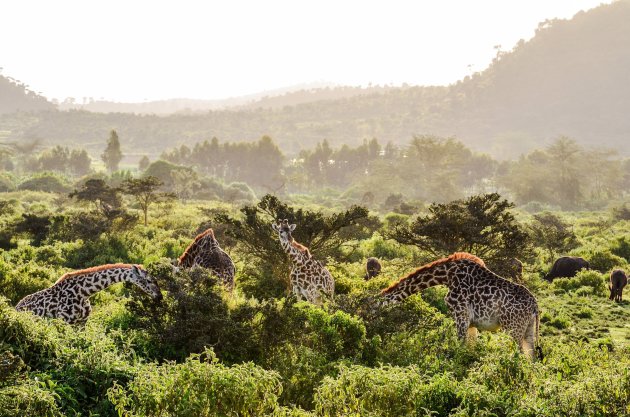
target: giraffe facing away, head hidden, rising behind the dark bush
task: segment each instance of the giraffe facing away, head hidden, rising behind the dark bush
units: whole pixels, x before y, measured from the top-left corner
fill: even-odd
[[[195,265],[208,268],[230,291],[234,289],[236,267],[230,255],[219,247],[212,229],[207,229],[195,237],[179,257],[177,268],[192,268]]]

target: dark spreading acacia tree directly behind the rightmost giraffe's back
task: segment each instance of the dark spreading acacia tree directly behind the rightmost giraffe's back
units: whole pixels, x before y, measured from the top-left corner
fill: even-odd
[[[513,207],[497,193],[434,203],[429,214],[417,217],[411,224],[396,223],[387,235],[436,258],[469,252],[482,258],[495,272],[504,274],[509,272],[511,258],[531,256],[529,236],[510,212]]]

